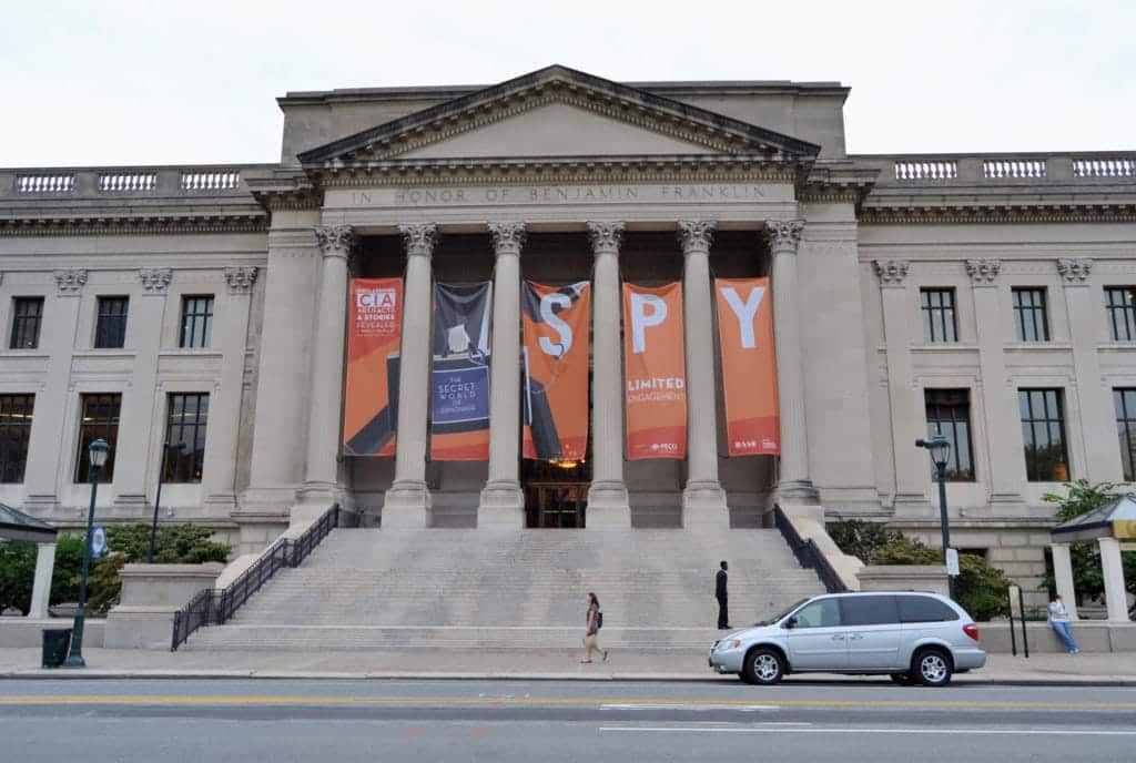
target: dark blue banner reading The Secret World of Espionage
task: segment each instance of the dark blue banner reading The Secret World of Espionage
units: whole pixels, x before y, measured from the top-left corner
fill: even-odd
[[[435,284],[431,459],[490,458],[490,316],[493,284]]]

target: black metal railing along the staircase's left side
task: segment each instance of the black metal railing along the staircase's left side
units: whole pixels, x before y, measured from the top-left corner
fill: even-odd
[[[174,613],[174,636],[170,652],[185,643],[190,635],[204,626],[223,626],[236,614],[254,593],[285,567],[300,567],[319,542],[340,522],[339,505],[332,506],[299,538],[279,538],[260,559],[225,588],[204,588],[190,603]]]

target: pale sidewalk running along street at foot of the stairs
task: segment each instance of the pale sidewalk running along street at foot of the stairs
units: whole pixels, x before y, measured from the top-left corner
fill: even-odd
[[[736,681],[716,676],[702,652],[613,651],[607,663],[579,664],[579,652],[148,652],[84,649],[85,670],[42,670],[40,649],[0,649],[0,678],[335,678],[515,679],[594,681]],[[788,681],[833,680],[830,674]],[[840,680],[880,680],[850,677]],[[887,680],[884,678],[883,680]],[[960,685],[1136,686],[1136,654],[991,655],[986,668],[955,676]],[[2,682],[0,682],[2,686]]]

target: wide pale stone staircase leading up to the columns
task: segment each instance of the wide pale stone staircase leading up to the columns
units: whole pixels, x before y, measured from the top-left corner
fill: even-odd
[[[824,593],[777,530],[337,529],[183,648],[570,648],[590,590],[604,646],[702,648],[722,559],[733,626]]]

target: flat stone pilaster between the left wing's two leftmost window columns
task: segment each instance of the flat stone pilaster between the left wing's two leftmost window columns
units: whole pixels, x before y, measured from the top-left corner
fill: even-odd
[[[60,481],[72,481],[72,476],[66,472],[72,468],[72,454],[65,453],[59,444],[65,442],[72,354],[75,352],[80,296],[86,283],[86,270],[56,270],[53,276],[56,293],[43,301],[44,319],[40,335],[41,352],[48,355],[47,374],[35,391],[32,411],[35,426],[27,444],[24,473],[27,489],[24,510],[36,515],[52,512],[58,506]]]

